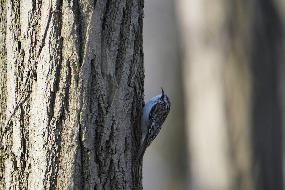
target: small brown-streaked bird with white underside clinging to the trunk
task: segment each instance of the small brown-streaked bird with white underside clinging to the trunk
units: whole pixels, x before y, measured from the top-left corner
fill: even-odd
[[[150,99],[143,107],[141,115],[141,148],[135,157],[134,164],[143,158],[146,148],[156,138],[170,111],[170,100],[164,94],[162,88],[161,90],[162,94]]]

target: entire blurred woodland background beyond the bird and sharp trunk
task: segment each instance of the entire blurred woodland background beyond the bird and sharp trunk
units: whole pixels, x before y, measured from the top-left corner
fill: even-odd
[[[284,189],[285,1],[144,5],[145,101],[172,107],[144,189]]]

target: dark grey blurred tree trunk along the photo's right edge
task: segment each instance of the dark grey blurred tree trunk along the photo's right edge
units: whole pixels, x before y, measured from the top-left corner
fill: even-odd
[[[253,1],[252,6],[255,10],[251,24],[253,174],[256,189],[282,190],[282,94],[279,88],[284,89],[280,81],[285,63],[284,9],[279,9],[281,5],[276,1]]]

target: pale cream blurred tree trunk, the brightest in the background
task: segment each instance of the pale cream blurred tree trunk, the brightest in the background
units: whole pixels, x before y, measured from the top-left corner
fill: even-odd
[[[223,1],[180,0],[184,48],[190,187],[233,189],[224,69],[227,30]],[[190,9],[190,10],[189,10]]]

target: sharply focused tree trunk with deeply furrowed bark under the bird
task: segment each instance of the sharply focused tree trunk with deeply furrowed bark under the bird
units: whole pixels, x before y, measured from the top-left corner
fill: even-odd
[[[141,189],[143,0],[52,1],[44,46],[0,150],[0,189]],[[0,3],[0,132],[49,1]],[[137,134],[137,135],[136,135]]]

